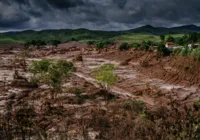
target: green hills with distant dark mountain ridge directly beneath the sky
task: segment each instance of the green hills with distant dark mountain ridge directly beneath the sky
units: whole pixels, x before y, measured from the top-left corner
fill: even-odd
[[[150,25],[127,31],[92,31],[88,29],[62,29],[62,30],[43,30],[33,31],[27,30],[22,32],[0,33],[0,44],[6,43],[25,43],[32,40],[60,40],[68,41],[98,41],[98,40],[114,40],[116,42],[142,42],[151,40],[160,41],[160,35],[170,34],[175,38],[182,37],[183,34],[200,31],[200,28],[193,25],[181,26],[176,28],[153,27]]]

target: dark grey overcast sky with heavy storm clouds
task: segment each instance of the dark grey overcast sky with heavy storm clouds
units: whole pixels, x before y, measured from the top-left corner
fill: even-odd
[[[0,31],[200,25],[200,0],[0,0]]]

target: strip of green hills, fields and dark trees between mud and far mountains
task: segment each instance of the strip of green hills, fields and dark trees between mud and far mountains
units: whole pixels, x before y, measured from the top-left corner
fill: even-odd
[[[157,30],[155,30],[157,32]],[[170,33],[170,34],[169,34]],[[176,34],[175,34],[176,33]],[[102,48],[114,42],[142,43],[143,41],[154,43],[174,42],[176,45],[186,45],[200,41],[200,33],[195,32],[158,32],[142,31],[91,31],[87,29],[77,30],[44,30],[44,31],[23,31],[14,33],[0,33],[0,44],[24,43],[26,46],[35,44],[49,44],[57,46],[61,42],[79,41],[89,45],[98,44]],[[33,42],[32,42],[33,41]],[[36,42],[34,42],[36,41]]]

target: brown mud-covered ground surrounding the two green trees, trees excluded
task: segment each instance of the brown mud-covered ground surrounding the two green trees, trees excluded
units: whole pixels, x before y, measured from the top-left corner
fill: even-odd
[[[153,51],[98,51],[78,45],[28,51],[26,57],[23,50],[1,52],[0,139],[176,139],[179,127],[187,132],[187,124],[174,131],[171,127],[188,117],[184,113],[200,99],[198,62],[160,58]],[[83,61],[78,61],[80,56]],[[28,66],[44,58],[76,66],[62,92],[27,83]],[[92,74],[105,63],[114,64],[119,77],[109,91]]]

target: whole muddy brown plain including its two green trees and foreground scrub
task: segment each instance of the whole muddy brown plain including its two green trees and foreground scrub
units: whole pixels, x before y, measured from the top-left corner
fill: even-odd
[[[17,73],[0,82],[0,139],[200,139],[199,49],[109,45],[63,55],[55,49],[37,61],[30,50],[17,59],[6,52],[0,68]],[[16,86],[16,79],[38,86]]]

